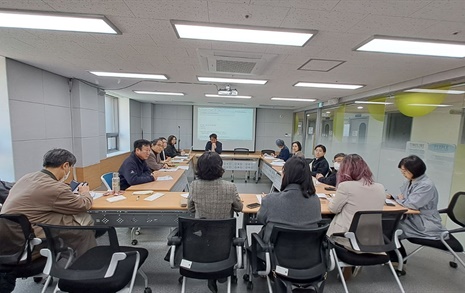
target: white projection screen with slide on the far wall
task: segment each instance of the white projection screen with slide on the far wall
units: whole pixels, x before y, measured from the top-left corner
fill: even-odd
[[[255,114],[253,108],[194,106],[194,149],[202,150],[212,133],[218,135],[223,150],[255,148]]]

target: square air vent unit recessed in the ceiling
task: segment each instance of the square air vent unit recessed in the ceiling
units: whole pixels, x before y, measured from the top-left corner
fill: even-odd
[[[259,75],[278,55],[198,49],[202,71]]]

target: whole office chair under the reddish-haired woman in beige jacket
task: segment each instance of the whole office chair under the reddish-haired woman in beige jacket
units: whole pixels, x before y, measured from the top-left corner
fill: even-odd
[[[400,247],[398,237],[402,230],[397,227],[405,211],[359,211],[352,219],[349,232],[332,235],[350,243],[348,248],[339,244],[339,241],[332,241],[331,249],[345,292],[349,291],[341,267],[382,264],[389,266],[401,292],[404,292],[387,253]]]

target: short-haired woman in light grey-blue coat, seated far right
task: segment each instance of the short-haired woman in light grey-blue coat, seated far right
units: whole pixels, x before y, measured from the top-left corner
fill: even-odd
[[[399,227],[404,232],[400,238],[439,240],[441,233],[446,229],[442,226],[438,211],[438,190],[425,174],[425,163],[419,157],[411,155],[400,160],[398,168],[407,180],[400,187],[399,195],[387,197],[392,197],[406,208],[420,211],[420,214],[405,215],[400,221]],[[399,251],[404,257],[406,256],[403,246]]]

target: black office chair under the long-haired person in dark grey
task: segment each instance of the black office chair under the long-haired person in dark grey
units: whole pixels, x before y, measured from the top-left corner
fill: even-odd
[[[327,272],[332,269],[326,237],[328,227],[328,224],[321,224],[320,227],[301,229],[276,225],[268,243],[253,233],[252,246],[248,250],[248,269],[251,268],[254,276],[267,277],[270,293],[291,292],[293,286],[300,291],[323,292]],[[244,280],[247,289],[253,289],[250,270]]]

